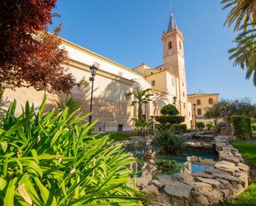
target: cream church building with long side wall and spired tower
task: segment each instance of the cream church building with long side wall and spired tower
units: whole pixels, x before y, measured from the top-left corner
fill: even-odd
[[[129,131],[134,129],[134,119],[138,117],[137,105],[132,106],[132,97],[126,93],[136,89],[152,89],[152,102],[145,105],[143,115],[146,119],[159,115],[160,109],[168,103],[175,104],[181,116],[186,117],[187,127],[191,127],[191,103],[187,101],[186,69],[184,57],[184,37],[171,13],[167,31],[162,34],[163,62],[157,68],[138,65],[130,69],[114,60],[96,54],[73,42],[62,39],[69,60],[65,63],[74,75],[76,85],[71,91],[73,98],[83,104],[81,112],[89,113],[91,76],[89,66],[99,69],[94,77],[93,119],[99,119],[99,131]],[[17,105],[28,100],[35,108],[40,106],[44,92],[32,88],[6,89],[4,95]],[[47,93],[46,108],[56,107],[56,102],[65,98],[64,94]],[[19,107],[19,111],[22,108]]]

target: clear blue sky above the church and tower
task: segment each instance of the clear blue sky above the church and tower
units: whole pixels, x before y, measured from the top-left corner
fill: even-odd
[[[129,68],[142,62],[162,64],[162,31],[167,29],[170,0],[59,0],[60,36]],[[219,0],[172,0],[176,23],[185,36],[188,93],[249,97],[256,87],[228,60],[235,35],[224,27]],[[52,27],[52,26],[51,26]]]

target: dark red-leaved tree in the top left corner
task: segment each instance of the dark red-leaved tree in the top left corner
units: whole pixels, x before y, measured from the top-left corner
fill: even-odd
[[[74,78],[63,63],[67,52],[47,25],[56,0],[0,1],[0,89],[33,87],[50,93],[69,93]]]

